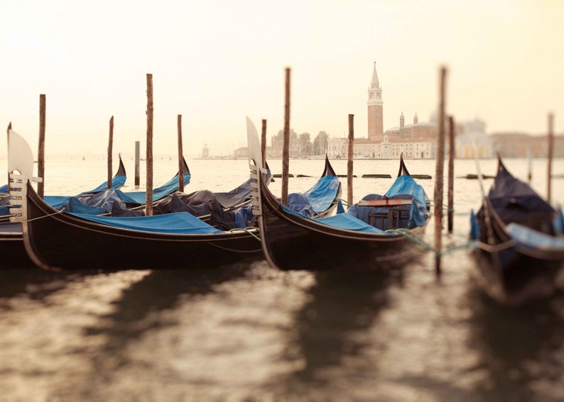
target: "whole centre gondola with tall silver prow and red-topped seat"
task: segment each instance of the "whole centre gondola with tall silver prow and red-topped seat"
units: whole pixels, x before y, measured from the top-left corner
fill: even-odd
[[[425,192],[406,174],[403,160],[403,169],[391,191],[380,200],[367,197],[357,206],[385,210],[385,218],[379,218],[381,213],[369,214],[374,215],[374,225],[345,212],[312,218],[292,211],[271,194],[260,168],[259,137],[249,119],[247,135],[251,178],[256,180],[254,213],[259,220],[264,254],[273,267],[364,271],[403,264],[421,252],[421,247],[401,233],[411,226],[411,235],[423,234],[429,217]],[[411,188],[411,194],[393,194],[400,188]],[[375,227],[380,224],[386,227]]]

